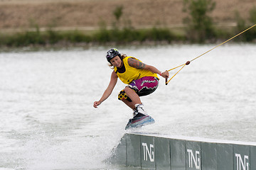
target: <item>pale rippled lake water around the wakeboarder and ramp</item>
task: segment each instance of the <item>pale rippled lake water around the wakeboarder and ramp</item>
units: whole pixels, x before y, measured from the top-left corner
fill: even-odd
[[[161,71],[215,45],[119,47]],[[129,169],[105,164],[132,116],[117,94],[92,107],[112,70],[108,48],[0,53],[0,169]],[[256,142],[256,45],[222,45],[142,102],[142,132]],[[178,70],[171,71],[173,75]]]

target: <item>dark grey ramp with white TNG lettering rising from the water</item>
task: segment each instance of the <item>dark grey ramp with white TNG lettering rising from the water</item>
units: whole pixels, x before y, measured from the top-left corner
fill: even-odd
[[[108,161],[142,169],[256,170],[256,145],[127,133]]]

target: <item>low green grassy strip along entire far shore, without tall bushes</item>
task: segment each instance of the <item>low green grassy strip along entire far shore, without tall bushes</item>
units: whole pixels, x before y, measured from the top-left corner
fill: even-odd
[[[223,41],[231,38],[245,29],[230,28],[230,29],[215,29],[210,38],[206,38],[204,42]],[[93,33],[84,33],[79,30],[57,31],[48,29],[41,31],[39,28],[36,31],[25,31],[22,33],[0,34],[1,47],[26,47],[26,46],[46,46],[46,45],[78,45],[84,44],[117,44],[127,45],[130,43],[145,44],[151,42],[154,44],[165,43],[171,44],[174,42],[180,43],[201,43],[201,40],[196,40],[193,36],[193,31],[188,32],[186,29],[174,31],[169,28],[149,28],[136,30],[133,28],[111,29],[102,28]],[[248,30],[238,38],[237,42],[254,42],[256,40],[256,28]]]

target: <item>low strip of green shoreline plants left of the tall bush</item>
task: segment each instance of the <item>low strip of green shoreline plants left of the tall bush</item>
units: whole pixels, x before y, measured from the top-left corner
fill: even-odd
[[[176,36],[167,28],[151,28],[145,30],[134,30],[131,28],[107,30],[101,29],[92,35],[85,35],[81,31],[69,31],[62,33],[59,31],[47,30],[27,31],[25,33],[16,33],[14,35],[0,35],[0,46],[22,47],[28,45],[54,45],[60,43],[95,43],[105,44],[107,42],[115,42],[118,44],[127,44],[130,42],[172,42],[174,40],[182,40],[182,36]]]

